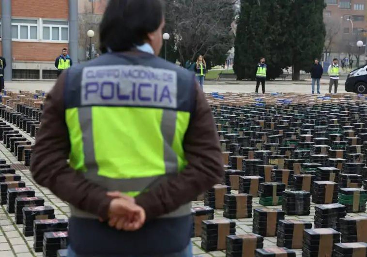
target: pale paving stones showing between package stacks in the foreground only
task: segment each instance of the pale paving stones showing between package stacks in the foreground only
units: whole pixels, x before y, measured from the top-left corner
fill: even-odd
[[[15,129],[19,130],[19,128],[10,124]],[[34,138],[30,137],[29,134],[26,134],[22,130],[19,130],[25,138],[34,142]],[[18,170],[17,174],[21,175],[22,181],[26,183],[27,186],[33,187],[36,191],[36,196],[43,197],[45,199],[45,205],[49,205],[54,207],[56,218],[68,218],[70,215],[70,210],[67,203],[58,199],[57,196],[53,195],[47,188],[40,187],[37,185],[30,171],[27,167],[22,165],[21,162],[17,161],[17,158],[6,149],[6,147],[0,141],[0,158],[6,159],[7,163],[16,164]],[[232,191],[232,193],[238,193],[238,191]],[[259,198],[253,199],[252,207],[261,207],[258,203]],[[203,201],[193,201],[192,206],[203,206]],[[306,221],[312,221],[313,216],[315,215],[315,204],[311,203],[311,213],[309,216],[287,216],[286,219],[302,219]],[[269,206],[269,208],[281,208],[281,206]],[[348,213],[347,216],[367,216],[366,213]],[[223,218],[223,210],[215,210],[214,219]],[[236,234],[248,234],[252,232],[252,218],[243,218],[236,219]],[[6,211],[6,206],[0,207],[0,257],[35,257],[42,256],[42,253],[35,253],[33,251],[33,236],[25,237],[22,234],[22,225],[16,225],[14,220],[14,214],[8,214]],[[201,257],[224,257],[225,251],[211,251],[206,253],[203,249],[201,249],[201,238],[192,238],[193,242],[193,254],[195,256]],[[264,247],[272,247],[276,246],[276,237],[266,237],[264,238]],[[301,250],[295,250],[297,253],[297,257],[301,257]]]

